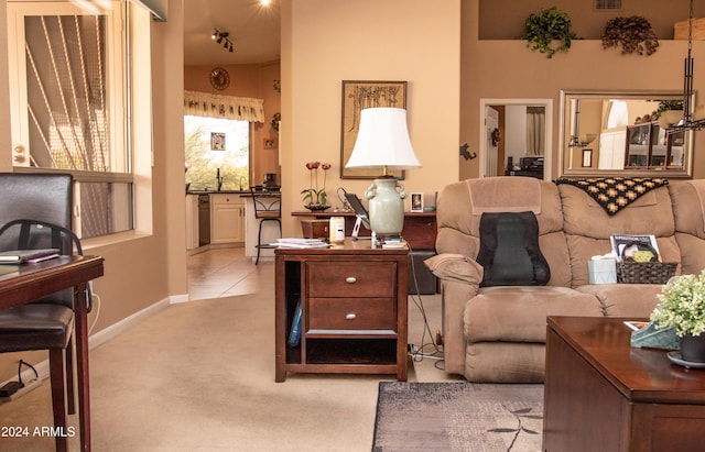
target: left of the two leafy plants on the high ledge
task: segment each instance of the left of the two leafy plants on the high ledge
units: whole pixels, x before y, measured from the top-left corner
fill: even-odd
[[[532,13],[527,18],[525,26],[521,37],[527,40],[527,47],[546,54],[547,58],[553,58],[556,52],[567,52],[572,40],[577,38],[572,31],[571,18],[556,7],[541,8],[538,14]],[[553,41],[558,42],[557,46],[552,45]]]

